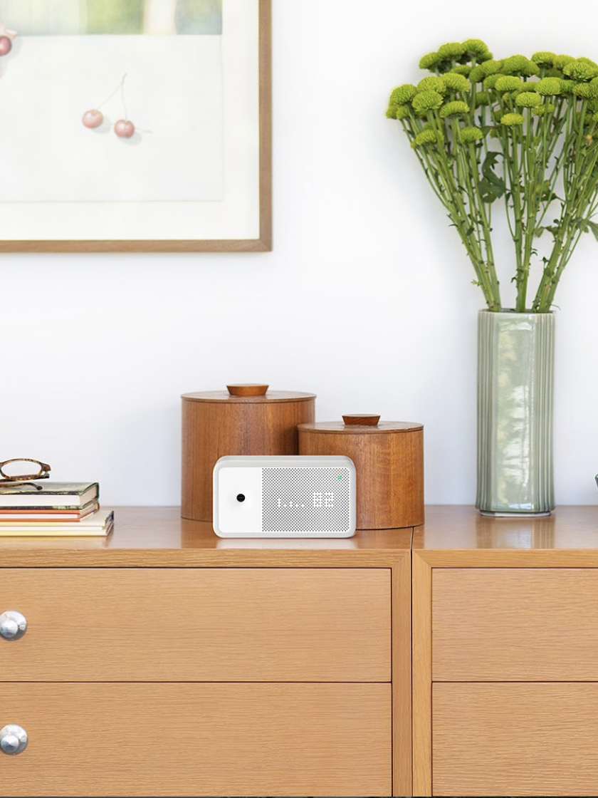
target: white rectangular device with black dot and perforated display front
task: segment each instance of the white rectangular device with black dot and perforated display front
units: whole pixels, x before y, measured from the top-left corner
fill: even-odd
[[[338,499],[336,481],[332,480],[340,483]],[[314,486],[321,489],[313,491]],[[302,499],[297,496],[293,504],[292,494],[297,489]],[[238,501],[241,494],[245,499]],[[281,516],[293,516],[294,523]],[[352,537],[356,528],[355,465],[344,456],[221,457],[214,466],[213,521],[214,532],[221,538]]]

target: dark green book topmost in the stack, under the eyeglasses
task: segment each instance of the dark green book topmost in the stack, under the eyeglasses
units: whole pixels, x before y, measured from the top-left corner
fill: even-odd
[[[37,482],[37,491],[31,484],[0,484],[0,508],[15,510],[77,510],[97,500],[100,486],[97,482]],[[6,486],[6,487],[5,487]]]

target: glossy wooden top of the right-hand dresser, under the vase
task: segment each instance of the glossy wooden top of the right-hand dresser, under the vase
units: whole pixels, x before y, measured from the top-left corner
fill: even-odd
[[[557,507],[547,518],[490,518],[469,506],[426,508],[426,523],[413,535],[413,551],[448,554],[452,551],[499,555],[592,552],[598,556],[598,505]]]

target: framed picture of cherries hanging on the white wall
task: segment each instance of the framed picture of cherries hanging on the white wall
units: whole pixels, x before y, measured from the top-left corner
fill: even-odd
[[[271,249],[271,0],[0,0],[0,252]]]

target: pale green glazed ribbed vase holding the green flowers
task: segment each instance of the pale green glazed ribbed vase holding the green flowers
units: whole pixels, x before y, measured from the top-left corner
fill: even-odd
[[[552,313],[478,317],[478,495],[483,515],[554,509]]]

